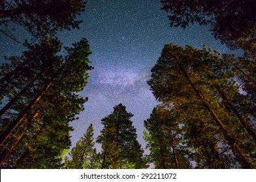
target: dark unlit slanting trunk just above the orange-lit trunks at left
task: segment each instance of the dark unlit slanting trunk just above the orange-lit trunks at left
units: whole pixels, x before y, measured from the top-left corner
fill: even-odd
[[[42,75],[44,71],[41,71],[37,76],[33,77],[33,79],[29,82],[27,86],[25,86],[14,98],[12,98],[3,109],[0,110],[0,117],[14,104],[18,99],[22,97],[22,95],[33,85],[33,83]]]

